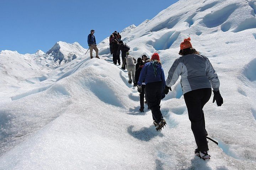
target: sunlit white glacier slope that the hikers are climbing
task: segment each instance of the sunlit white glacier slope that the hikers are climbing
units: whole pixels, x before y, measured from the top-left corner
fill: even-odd
[[[158,52],[166,76],[188,36],[209,58],[224,98],[221,107],[212,98],[204,107],[209,137],[219,142],[209,141],[210,160],[193,153],[180,81],[161,102],[167,126],[157,132],[151,112],[138,112],[137,88],[112,64],[106,38],[100,59],[86,54],[43,74],[44,81],[5,89],[0,169],[255,169],[255,11],[255,0],[180,0],[121,32],[135,58]],[[55,49],[50,54],[57,57]]]

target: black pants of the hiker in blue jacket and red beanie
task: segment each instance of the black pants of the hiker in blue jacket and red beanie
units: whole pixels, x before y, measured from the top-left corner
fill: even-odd
[[[148,106],[151,109],[153,120],[159,123],[163,119],[160,111],[160,102],[163,91],[162,81],[156,81],[146,84],[145,93]]]

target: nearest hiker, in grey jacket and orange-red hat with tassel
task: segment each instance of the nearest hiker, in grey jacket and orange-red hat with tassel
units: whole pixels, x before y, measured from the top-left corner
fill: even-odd
[[[210,155],[206,136],[203,107],[209,101],[213,88],[213,102],[222,106],[223,98],[219,92],[219,79],[209,59],[192,47],[191,38],[184,39],[180,44],[180,58],[172,64],[166,80],[165,90],[176,83],[181,75],[184,100],[191,121],[191,129],[196,140],[195,154],[202,159]]]

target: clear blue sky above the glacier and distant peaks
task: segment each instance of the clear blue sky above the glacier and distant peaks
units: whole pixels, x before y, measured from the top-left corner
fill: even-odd
[[[95,30],[97,43],[114,30],[120,32],[178,0],[1,0],[0,51],[47,52],[56,42],[79,42]]]

